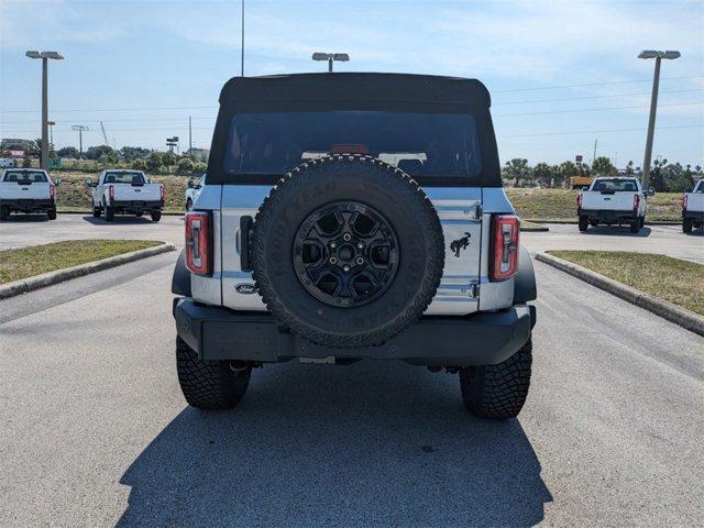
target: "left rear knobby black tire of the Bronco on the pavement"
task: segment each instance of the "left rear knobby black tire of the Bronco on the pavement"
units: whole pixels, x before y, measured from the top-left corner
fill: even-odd
[[[202,361],[179,337],[176,338],[178,383],[188,405],[198,409],[231,409],[250,384],[252,369],[233,370],[229,361]]]

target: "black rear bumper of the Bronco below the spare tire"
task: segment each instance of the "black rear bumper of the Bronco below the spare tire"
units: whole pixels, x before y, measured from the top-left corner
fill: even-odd
[[[238,312],[174,299],[176,331],[204,360],[276,363],[294,358],[404,360],[430,366],[496,364],[529,339],[536,309],[516,305],[466,317],[424,317],[378,346],[334,349],[315,344],[267,312]]]

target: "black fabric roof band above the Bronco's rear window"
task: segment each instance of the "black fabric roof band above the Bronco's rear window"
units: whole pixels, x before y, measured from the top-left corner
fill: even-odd
[[[311,108],[413,106],[417,110],[491,106],[486,87],[476,79],[411,74],[323,73],[233,77],[220,92],[220,103],[238,111],[260,107],[309,103]],[[337,103],[337,105],[336,105]],[[391,108],[389,108],[391,109]]]

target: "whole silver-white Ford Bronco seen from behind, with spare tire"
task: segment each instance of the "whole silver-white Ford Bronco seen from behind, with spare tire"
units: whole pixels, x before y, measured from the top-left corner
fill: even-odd
[[[517,416],[536,283],[490,106],[462,78],[227,82],[172,283],[186,400],[234,407],[266,363],[402,360]]]

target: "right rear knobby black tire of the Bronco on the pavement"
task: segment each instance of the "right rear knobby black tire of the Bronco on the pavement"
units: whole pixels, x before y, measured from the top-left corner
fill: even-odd
[[[528,397],[531,363],[532,343],[528,340],[518,352],[497,365],[460,370],[464,405],[479,418],[515,418]]]

